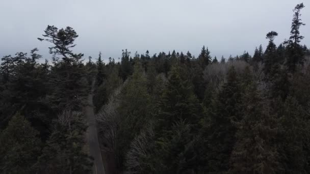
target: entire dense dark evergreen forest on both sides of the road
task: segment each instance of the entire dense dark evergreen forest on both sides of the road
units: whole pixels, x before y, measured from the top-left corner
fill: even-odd
[[[124,49],[119,62],[85,60],[73,28],[48,25],[38,40],[51,61],[38,63],[37,48],[1,59],[0,173],[92,173],[92,82],[106,173],[310,173],[303,8],[280,45],[271,31],[267,48],[221,58],[203,46],[197,57]]]

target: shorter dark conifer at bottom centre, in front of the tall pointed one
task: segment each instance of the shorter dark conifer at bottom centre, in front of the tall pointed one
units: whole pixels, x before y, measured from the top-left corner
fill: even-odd
[[[198,170],[193,128],[180,119],[163,131],[156,141],[153,173],[193,173]]]

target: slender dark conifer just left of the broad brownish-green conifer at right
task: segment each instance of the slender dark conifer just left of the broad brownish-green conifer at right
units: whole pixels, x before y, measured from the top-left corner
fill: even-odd
[[[204,125],[210,132],[207,138],[208,170],[213,173],[227,172],[229,169],[229,156],[233,151],[235,134],[237,131],[233,122],[242,119],[241,115],[241,87],[239,77],[232,66],[227,73],[227,82],[222,86],[212,108],[208,113],[209,122]]]

